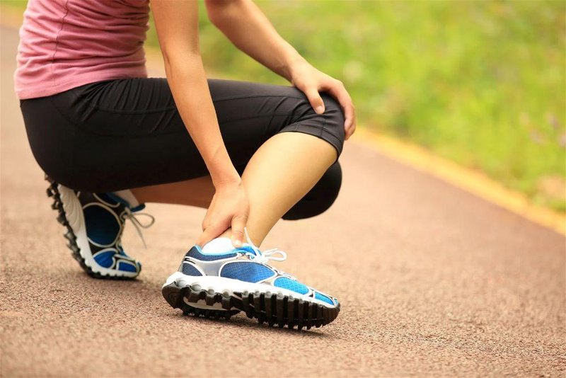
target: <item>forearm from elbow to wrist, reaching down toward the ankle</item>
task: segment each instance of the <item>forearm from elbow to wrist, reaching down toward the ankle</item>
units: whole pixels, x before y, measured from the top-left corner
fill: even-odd
[[[239,180],[220,134],[200,55],[185,54],[167,59],[165,67],[175,105],[214,185]]]

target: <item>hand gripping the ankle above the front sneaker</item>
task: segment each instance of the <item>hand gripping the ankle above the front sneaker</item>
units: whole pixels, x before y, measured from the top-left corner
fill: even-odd
[[[249,214],[250,204],[241,180],[216,185],[216,193],[202,221],[202,234],[196,244],[204,246],[231,227],[233,246],[242,246],[243,228]]]

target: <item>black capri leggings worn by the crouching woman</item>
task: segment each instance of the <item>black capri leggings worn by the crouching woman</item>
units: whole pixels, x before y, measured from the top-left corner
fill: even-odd
[[[318,115],[291,86],[208,80],[220,130],[240,173],[255,151],[279,132],[304,132],[342,152],[344,116],[322,93]],[[206,176],[207,167],[185,129],[167,80],[98,81],[53,96],[20,101],[37,163],[75,190],[111,192]],[[342,182],[335,162],[284,219],[320,214]]]

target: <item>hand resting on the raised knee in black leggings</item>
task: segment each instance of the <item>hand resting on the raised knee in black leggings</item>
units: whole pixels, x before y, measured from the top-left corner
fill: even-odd
[[[334,79],[306,62],[301,62],[291,69],[291,84],[305,93],[308,102],[316,113],[324,113],[323,99],[318,91],[325,91],[336,98],[344,110],[344,131],[349,139],[356,130],[356,113],[350,94],[346,91],[342,81]]]

